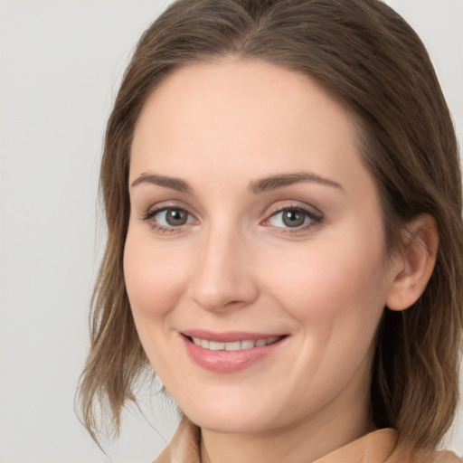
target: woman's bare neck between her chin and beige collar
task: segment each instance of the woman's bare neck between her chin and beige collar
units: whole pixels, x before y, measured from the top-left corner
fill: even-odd
[[[345,410],[337,408],[334,416],[324,413],[275,430],[239,434],[203,429],[202,463],[307,463],[371,430],[369,400]]]

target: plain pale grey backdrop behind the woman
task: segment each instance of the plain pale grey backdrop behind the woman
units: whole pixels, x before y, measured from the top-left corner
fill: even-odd
[[[175,429],[173,408],[146,392],[145,417],[129,411],[105,455],[73,411],[104,242],[104,126],[138,36],[168,3],[0,0],[2,463],[149,462]],[[463,0],[388,3],[428,46],[462,140]],[[463,425],[447,445],[463,454]]]

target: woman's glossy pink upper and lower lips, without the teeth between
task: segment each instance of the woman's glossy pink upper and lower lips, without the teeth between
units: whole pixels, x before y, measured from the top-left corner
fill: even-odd
[[[186,336],[199,337],[201,339],[207,339],[208,341],[224,343],[268,339],[276,335],[238,332],[211,333],[199,330],[188,331],[183,334],[184,345],[190,358],[195,364],[214,373],[234,373],[241,371],[271,354],[279,347],[283,339],[285,339],[285,337],[283,337],[271,345],[261,345],[259,347],[252,347],[251,349],[242,349],[239,351],[213,351],[211,349],[205,349],[201,345],[195,345]]]

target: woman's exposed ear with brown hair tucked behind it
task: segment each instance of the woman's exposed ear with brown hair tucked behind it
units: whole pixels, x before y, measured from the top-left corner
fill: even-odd
[[[391,310],[411,307],[426,288],[439,248],[437,223],[431,215],[424,213],[407,224],[401,249],[392,265],[395,276],[389,288],[386,306]]]

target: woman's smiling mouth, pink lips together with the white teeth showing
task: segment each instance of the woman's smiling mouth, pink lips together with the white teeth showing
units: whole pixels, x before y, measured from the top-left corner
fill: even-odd
[[[182,333],[189,357],[214,373],[233,373],[249,368],[272,354],[288,335],[263,333]]]

